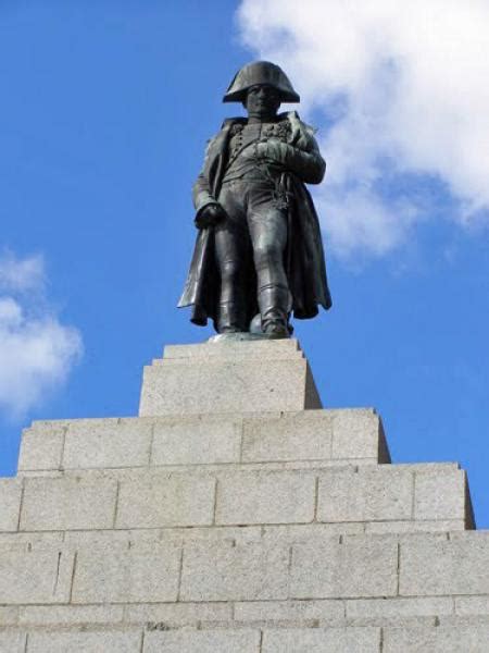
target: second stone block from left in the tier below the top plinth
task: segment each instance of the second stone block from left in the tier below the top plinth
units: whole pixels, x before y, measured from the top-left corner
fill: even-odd
[[[65,435],[63,467],[90,469],[139,467],[149,463],[151,420],[83,419],[71,421]]]

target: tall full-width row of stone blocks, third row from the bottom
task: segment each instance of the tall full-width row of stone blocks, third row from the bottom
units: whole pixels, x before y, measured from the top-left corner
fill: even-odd
[[[489,531],[247,542],[0,547],[0,605],[106,605],[489,594]]]

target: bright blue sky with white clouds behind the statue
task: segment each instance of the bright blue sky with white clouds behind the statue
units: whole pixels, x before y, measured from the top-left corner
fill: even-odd
[[[447,64],[455,9],[430,30],[414,2],[429,37],[414,49],[387,3],[356,22],[339,7],[311,3],[330,11],[321,38],[325,22],[294,22],[285,0],[1,2],[1,475],[33,419],[136,415],[142,366],[211,335],[176,309],[190,187],[240,112],[225,87],[267,56],[328,163],[314,193],[334,308],[296,322],[324,404],[375,406],[394,461],[459,460],[489,526],[487,75]]]

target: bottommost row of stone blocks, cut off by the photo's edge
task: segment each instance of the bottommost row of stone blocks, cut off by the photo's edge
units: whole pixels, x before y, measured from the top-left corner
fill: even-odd
[[[487,653],[489,626],[0,630],[1,653]]]

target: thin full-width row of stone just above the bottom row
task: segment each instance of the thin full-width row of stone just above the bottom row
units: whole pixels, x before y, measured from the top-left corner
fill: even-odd
[[[478,602],[467,615],[464,604]],[[484,608],[480,603],[484,600]],[[0,608],[0,628],[88,628],[97,626],[178,628],[348,628],[489,626],[489,596],[18,605]]]

